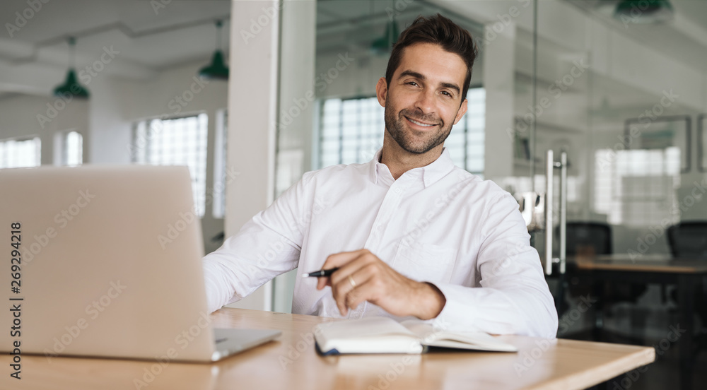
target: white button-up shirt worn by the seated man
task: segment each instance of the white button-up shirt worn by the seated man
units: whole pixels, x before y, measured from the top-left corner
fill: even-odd
[[[307,172],[223,246],[204,257],[209,309],[298,268],[292,312],[340,318],[317,271],[329,254],[366,248],[414,280],[433,283],[449,330],[554,338],[557,313],[518,203],[456,167],[447,150],[393,179],[378,162]],[[347,318],[387,315],[364,302]]]

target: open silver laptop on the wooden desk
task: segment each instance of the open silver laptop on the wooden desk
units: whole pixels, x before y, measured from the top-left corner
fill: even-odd
[[[212,329],[203,251],[187,167],[0,170],[0,352],[213,362],[279,336]]]

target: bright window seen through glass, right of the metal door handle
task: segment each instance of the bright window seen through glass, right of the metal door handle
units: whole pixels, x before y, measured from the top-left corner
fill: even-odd
[[[595,153],[597,213],[614,225],[636,227],[679,222],[675,189],[680,185],[679,148],[612,150]]]

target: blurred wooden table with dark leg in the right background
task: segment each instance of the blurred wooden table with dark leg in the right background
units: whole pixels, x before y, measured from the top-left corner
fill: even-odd
[[[568,259],[578,271],[588,272],[596,280],[624,283],[670,283],[677,285],[679,323],[684,333],[677,346],[680,355],[680,388],[692,389],[692,345],[694,343],[694,294],[696,286],[707,275],[705,259],[673,259],[670,254],[644,255],[631,259],[628,254],[578,256]],[[668,330],[666,330],[666,333]]]

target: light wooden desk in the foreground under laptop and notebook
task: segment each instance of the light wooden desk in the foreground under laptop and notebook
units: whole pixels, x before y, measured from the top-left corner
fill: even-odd
[[[4,374],[0,389],[568,390],[605,382],[655,360],[653,348],[524,336],[501,336],[518,346],[519,353],[322,358],[315,353],[311,332],[325,318],[245,309],[221,309],[212,316],[218,327],[279,329],[283,334],[278,341],[211,365],[170,363],[152,378],[146,372],[155,361],[23,355],[22,379]],[[136,379],[147,386],[136,385]]]

